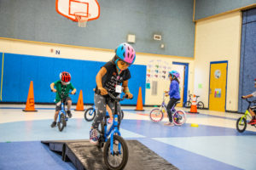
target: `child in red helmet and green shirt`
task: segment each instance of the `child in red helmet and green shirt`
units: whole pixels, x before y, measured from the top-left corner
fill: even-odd
[[[70,107],[72,105],[72,100],[71,98],[68,96],[68,93],[70,90],[72,90],[71,94],[75,94],[76,93],[76,88],[73,87],[73,84],[70,82],[71,80],[71,75],[66,72],[63,71],[60,74],[60,80],[56,81],[56,82],[52,82],[49,86],[51,91],[56,93],[55,96],[55,116],[54,116],[54,122],[51,123],[50,127],[55,127],[56,126],[56,120],[58,118],[58,113],[59,111],[61,111],[61,98],[64,98],[64,102],[67,104],[67,115],[70,117],[72,117],[71,111],[70,111]]]

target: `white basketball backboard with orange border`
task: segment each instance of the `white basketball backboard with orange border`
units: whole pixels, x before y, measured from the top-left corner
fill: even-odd
[[[100,5],[97,0],[56,0],[57,13],[78,22],[76,14],[84,14],[88,20],[100,17]]]

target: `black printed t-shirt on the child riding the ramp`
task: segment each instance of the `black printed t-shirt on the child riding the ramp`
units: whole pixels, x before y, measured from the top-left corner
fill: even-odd
[[[115,93],[115,86],[122,85],[125,80],[131,78],[131,74],[129,69],[122,71],[120,75],[118,75],[116,71],[116,65],[114,65],[111,61],[108,61],[103,67],[106,68],[107,72],[102,77],[102,87],[108,90],[108,93],[117,96],[118,93]],[[96,88],[97,89],[97,88]]]

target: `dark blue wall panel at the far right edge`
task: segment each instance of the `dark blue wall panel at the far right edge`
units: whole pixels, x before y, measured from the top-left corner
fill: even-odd
[[[243,12],[241,34],[241,60],[239,77],[238,111],[247,110],[247,102],[241,99],[242,95],[252,94],[254,79],[256,78],[256,8]],[[255,99],[255,98],[254,98]],[[252,100],[252,99],[251,99]]]

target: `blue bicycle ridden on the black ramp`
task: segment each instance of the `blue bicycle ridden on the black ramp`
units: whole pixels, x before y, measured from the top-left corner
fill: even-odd
[[[125,167],[129,156],[125,139],[121,137],[121,133],[119,132],[120,117],[117,112],[117,103],[124,100],[127,96],[125,95],[121,99],[114,97],[112,94],[108,94],[108,96],[114,101],[113,124],[108,128],[108,116],[103,118],[101,129],[99,129],[100,138],[98,148],[101,149],[104,146],[103,156],[105,164],[109,169],[117,170]]]

